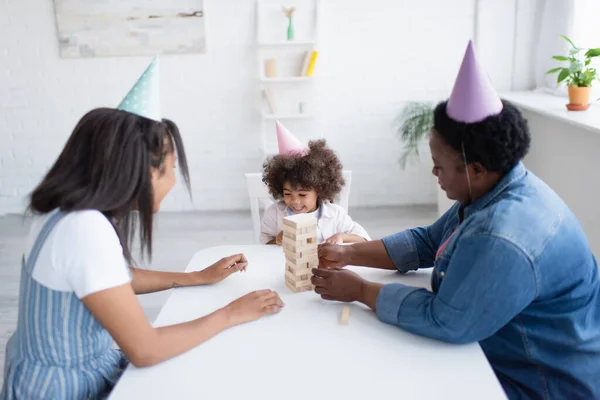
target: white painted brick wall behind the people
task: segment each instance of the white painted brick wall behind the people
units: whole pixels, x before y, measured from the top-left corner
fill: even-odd
[[[178,186],[163,210],[246,208],[243,173],[262,163],[254,2],[205,5],[208,52],[161,58],[163,111],[183,132],[194,197]],[[322,1],[314,132],[354,171],[352,205],[435,202],[426,154],[399,168],[392,121],[404,101],[447,97],[473,21],[473,0]],[[0,214],[23,210],[77,120],[118,104],[149,60],[60,59],[52,1],[0,0]],[[500,72],[512,62],[492,61]]]

